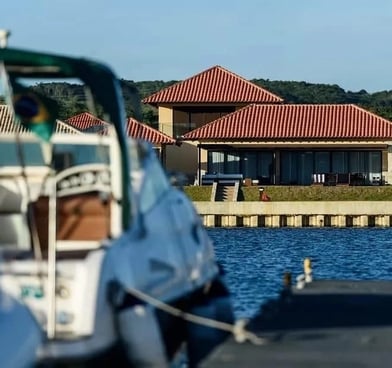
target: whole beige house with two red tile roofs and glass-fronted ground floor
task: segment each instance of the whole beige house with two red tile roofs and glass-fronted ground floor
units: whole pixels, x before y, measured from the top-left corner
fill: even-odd
[[[215,66],[143,100],[180,139],[166,166],[262,185],[392,183],[392,123],[352,104],[285,104]]]

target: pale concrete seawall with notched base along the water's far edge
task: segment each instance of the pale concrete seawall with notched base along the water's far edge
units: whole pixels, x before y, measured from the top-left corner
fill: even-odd
[[[392,201],[193,203],[206,227],[392,226]]]

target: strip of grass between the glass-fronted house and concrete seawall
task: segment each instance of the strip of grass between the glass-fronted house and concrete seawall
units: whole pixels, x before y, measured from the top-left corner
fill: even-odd
[[[211,186],[186,186],[192,201],[209,201]],[[392,186],[264,186],[273,201],[392,201]],[[258,201],[258,187],[242,187],[242,201]]]

